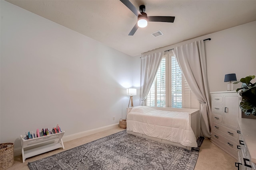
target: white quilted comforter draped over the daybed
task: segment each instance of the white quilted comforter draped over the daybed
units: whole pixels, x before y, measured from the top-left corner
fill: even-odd
[[[127,114],[126,130],[180,143],[187,147],[197,147],[196,137],[189,124],[188,112],[136,106]]]

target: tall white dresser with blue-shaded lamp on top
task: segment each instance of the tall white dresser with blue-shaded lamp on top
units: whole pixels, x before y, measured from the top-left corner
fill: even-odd
[[[212,137],[211,141],[228,154],[237,158],[239,144],[238,118],[241,96],[236,91],[211,92],[212,96]]]

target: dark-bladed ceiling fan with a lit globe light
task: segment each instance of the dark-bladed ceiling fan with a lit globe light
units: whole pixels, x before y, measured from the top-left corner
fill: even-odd
[[[140,11],[129,1],[129,0],[120,0],[127,8],[129,8],[137,17],[138,22],[134,25],[132,30],[128,35],[134,35],[139,27],[146,27],[148,22],[174,22],[175,17],[172,16],[147,16],[145,13],[146,6],[141,5]]]

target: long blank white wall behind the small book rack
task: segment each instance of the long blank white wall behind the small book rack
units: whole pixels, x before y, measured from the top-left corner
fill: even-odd
[[[59,124],[72,135],[124,118],[126,88],[133,86],[131,56],[0,3],[1,143],[18,148],[20,135],[37,128]]]

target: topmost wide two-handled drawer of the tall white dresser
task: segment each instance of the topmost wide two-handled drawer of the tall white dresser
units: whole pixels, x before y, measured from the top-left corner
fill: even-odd
[[[215,122],[213,122],[212,126],[214,131],[220,131],[222,135],[238,143],[238,133],[236,132],[236,130],[219,125]]]

